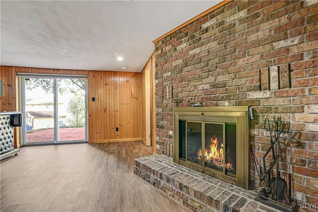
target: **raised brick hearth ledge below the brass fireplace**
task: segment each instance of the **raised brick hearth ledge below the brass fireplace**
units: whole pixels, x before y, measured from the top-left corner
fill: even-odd
[[[276,212],[248,191],[153,154],[135,159],[134,173],[193,212]]]

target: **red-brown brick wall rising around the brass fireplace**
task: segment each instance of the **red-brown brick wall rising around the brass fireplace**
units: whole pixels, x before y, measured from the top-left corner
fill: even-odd
[[[231,1],[155,47],[158,153],[172,156],[173,107],[253,106],[256,157],[270,144],[263,120],[291,122],[281,175],[292,174],[293,197],[318,203],[317,1]]]

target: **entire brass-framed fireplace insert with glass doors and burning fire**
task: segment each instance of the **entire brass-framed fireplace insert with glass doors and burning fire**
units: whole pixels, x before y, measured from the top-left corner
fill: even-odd
[[[173,161],[249,188],[248,106],[173,109]]]

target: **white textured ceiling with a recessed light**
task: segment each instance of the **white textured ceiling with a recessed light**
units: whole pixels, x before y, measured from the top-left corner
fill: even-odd
[[[141,72],[153,40],[221,1],[1,0],[0,64]]]

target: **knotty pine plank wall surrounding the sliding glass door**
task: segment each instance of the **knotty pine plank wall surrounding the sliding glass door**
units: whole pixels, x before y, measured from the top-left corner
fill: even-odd
[[[140,141],[142,137],[142,74],[1,66],[0,111],[17,108],[16,72],[88,75],[88,142]],[[95,102],[92,102],[95,97]],[[119,131],[116,132],[116,127]],[[20,146],[20,139],[15,147]]]

